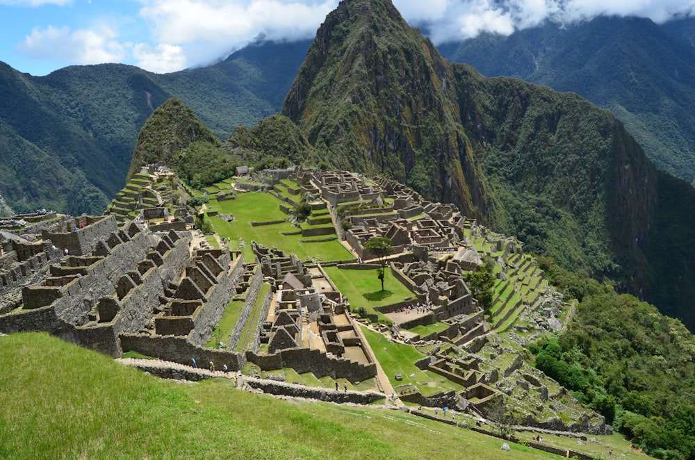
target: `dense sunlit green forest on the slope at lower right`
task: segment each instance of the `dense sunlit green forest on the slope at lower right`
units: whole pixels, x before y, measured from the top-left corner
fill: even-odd
[[[678,320],[547,259],[542,268],[580,300],[566,333],[530,347],[536,366],[659,458],[695,454],[695,337]]]

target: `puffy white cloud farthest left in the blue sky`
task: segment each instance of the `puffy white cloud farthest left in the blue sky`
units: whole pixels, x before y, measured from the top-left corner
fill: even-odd
[[[63,60],[74,64],[120,63],[126,49],[108,26],[70,31],[67,26],[34,28],[17,51],[32,58]]]

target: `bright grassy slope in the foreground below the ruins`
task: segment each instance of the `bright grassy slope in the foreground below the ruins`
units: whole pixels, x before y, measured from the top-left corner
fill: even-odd
[[[46,334],[0,337],[0,458],[509,458],[400,411],[161,381]],[[514,459],[554,458],[511,443]]]

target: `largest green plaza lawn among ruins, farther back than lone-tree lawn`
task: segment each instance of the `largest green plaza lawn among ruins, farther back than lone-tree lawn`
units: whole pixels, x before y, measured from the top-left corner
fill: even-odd
[[[262,243],[268,247],[277,247],[306,261],[316,259],[319,261],[345,261],[354,258],[337,240],[322,241],[318,243],[302,243],[302,235],[283,235],[300,231],[292,227],[289,222],[281,224],[263,225],[252,227],[250,222],[270,222],[272,220],[285,220],[287,215],[280,211],[281,202],[268,193],[246,192],[238,193],[236,199],[217,202],[211,200],[208,206],[220,213],[234,216],[232,222],[227,222],[220,217],[210,217],[215,231],[221,237],[231,238],[230,249],[240,249],[247,262],[254,260],[251,250],[251,241]],[[239,240],[242,238],[242,240]],[[322,238],[322,237],[317,237]],[[238,248],[243,241],[244,245]]]

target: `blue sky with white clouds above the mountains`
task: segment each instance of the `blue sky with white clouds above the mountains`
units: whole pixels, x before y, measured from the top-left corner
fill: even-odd
[[[435,44],[481,31],[509,34],[545,19],[600,14],[664,22],[692,0],[393,0]],[[0,0],[0,60],[45,75],[67,65],[124,63],[151,72],[206,65],[263,33],[311,38],[338,0]]]

